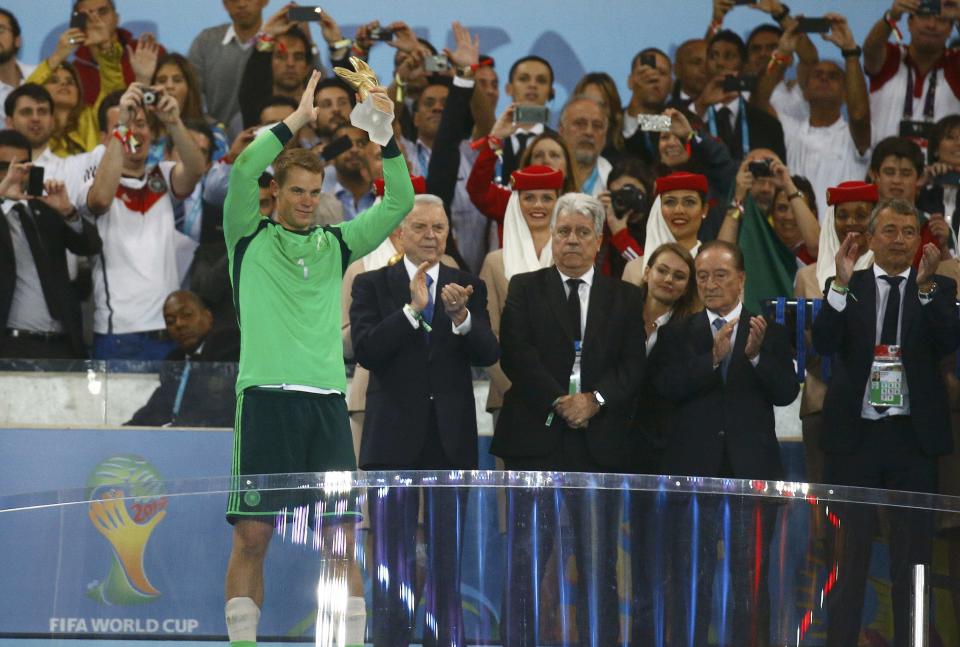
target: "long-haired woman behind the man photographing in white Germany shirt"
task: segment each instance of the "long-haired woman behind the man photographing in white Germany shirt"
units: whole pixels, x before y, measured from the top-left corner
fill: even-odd
[[[213,161],[223,157],[230,148],[226,132],[221,124],[203,112],[203,94],[200,91],[200,81],[193,71],[193,66],[182,54],[165,54],[157,61],[157,68],[153,73],[150,84],[162,88],[177,100],[180,106],[180,116],[184,122],[205,122],[213,131]],[[163,126],[157,120],[152,120],[152,126],[157,136],[150,147],[148,163],[157,163],[168,156],[168,137]]]

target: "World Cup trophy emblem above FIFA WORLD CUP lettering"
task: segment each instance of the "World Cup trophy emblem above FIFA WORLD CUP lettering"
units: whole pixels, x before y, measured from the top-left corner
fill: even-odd
[[[87,595],[106,604],[144,604],[160,591],[144,566],[147,544],[167,515],[160,475],[143,458],[113,456],[100,463],[87,482],[93,527],[112,549],[110,570],[88,586]]]

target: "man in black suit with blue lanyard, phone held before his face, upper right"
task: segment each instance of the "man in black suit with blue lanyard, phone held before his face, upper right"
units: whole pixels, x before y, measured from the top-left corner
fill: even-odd
[[[727,145],[736,161],[754,148],[769,148],[785,160],[787,151],[780,122],[750,104],[739,90],[724,90],[727,77],[741,79],[746,62],[747,46],[743,39],[728,29],[717,32],[707,46],[709,81],[691,105],[710,134]]]

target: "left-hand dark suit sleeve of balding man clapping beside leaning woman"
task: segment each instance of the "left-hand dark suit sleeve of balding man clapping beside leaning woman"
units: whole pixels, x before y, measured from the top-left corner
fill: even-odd
[[[713,367],[713,347],[698,353],[690,341],[692,322],[676,328],[666,327],[657,338],[663,344],[663,368],[657,379],[657,392],[673,402],[683,402],[701,391],[723,382],[720,369]]]

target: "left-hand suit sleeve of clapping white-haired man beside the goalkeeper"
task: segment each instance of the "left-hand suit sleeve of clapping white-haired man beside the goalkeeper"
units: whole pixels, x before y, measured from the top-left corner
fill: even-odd
[[[350,304],[350,339],[357,362],[372,371],[385,368],[397,352],[419,333],[402,309],[386,317],[380,313],[373,277],[379,272],[358,274],[353,281]]]

